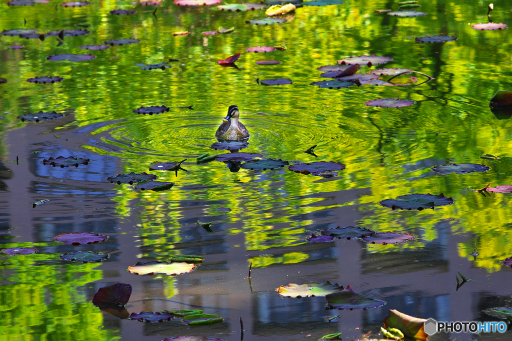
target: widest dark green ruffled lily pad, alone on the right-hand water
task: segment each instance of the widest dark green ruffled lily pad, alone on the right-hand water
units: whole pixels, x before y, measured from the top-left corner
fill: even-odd
[[[418,210],[434,209],[434,207],[447,206],[454,203],[452,197],[445,197],[444,194],[407,194],[400,195],[396,199],[386,199],[380,201],[383,207],[400,210]]]

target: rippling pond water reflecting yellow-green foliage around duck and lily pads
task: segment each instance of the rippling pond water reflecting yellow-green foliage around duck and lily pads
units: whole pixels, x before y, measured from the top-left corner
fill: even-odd
[[[44,40],[0,36],[0,154],[5,167],[0,192],[0,247],[35,247],[36,254],[0,260],[0,340],[161,340],[196,335],[244,339],[316,340],[343,332],[344,339],[378,333],[389,309],[437,321],[497,321],[483,310],[512,306],[511,194],[475,193],[512,185],[512,123],[497,117],[489,101],[510,88],[509,29],[478,31],[487,22],[481,1],[420,1],[420,17],[394,17],[375,10],[398,8],[392,1],[346,1],[304,6],[284,24],[255,26],[245,20],[265,10],[225,12],[214,6],[158,6],[97,1],[65,8],[0,4],[0,31],[41,33],[86,29],[83,36]],[[155,14],[154,9],[157,8]],[[491,12],[511,25],[509,3]],[[111,15],[115,9],[137,10]],[[234,27],[234,32],[204,36]],[[173,33],[188,31],[188,35]],[[447,34],[446,43],[416,43],[415,37]],[[140,42],[100,51],[87,44],[136,38]],[[23,45],[23,49],[9,49]],[[248,53],[248,47],[285,46],[286,51]],[[88,54],[80,62],[49,61],[56,54]],[[242,53],[236,67],[218,60]],[[362,66],[398,67],[434,79],[419,86],[357,85],[328,89],[317,67],[362,54],[392,61]],[[179,61],[169,62],[169,58]],[[278,60],[278,65],[257,65]],[[137,63],[169,62],[165,70]],[[27,79],[59,76],[54,84]],[[401,76],[427,78],[410,74]],[[290,85],[265,86],[257,79],[289,78]],[[365,106],[379,98],[414,100],[401,108]],[[251,136],[242,152],[309,163],[346,165],[334,177],[289,171],[255,171],[224,162],[197,164],[210,149],[227,108],[240,108]],[[141,106],[168,112],[138,115]],[[191,109],[178,108],[192,106]],[[17,119],[29,112],[56,111],[44,122]],[[500,118],[500,119],[499,119]],[[314,155],[304,153],[317,145]],[[493,154],[498,160],[480,156]],[[43,165],[49,157],[89,158],[88,165]],[[151,162],[187,159],[184,170],[149,171]],[[483,164],[490,170],[439,174],[432,167]],[[229,166],[229,167],[228,167]],[[6,170],[10,169],[10,171]],[[106,178],[130,172],[172,181],[167,191],[140,191]],[[450,206],[392,210],[379,202],[400,195],[443,193]],[[35,208],[31,203],[48,199]],[[229,209],[229,210],[226,210]],[[211,233],[196,224],[211,222]],[[360,239],[307,242],[312,233],[336,226],[409,233],[399,244]],[[106,235],[97,244],[55,242],[61,233]],[[474,247],[479,255],[471,256]],[[63,253],[96,251],[99,263],[73,263]],[[188,274],[137,276],[126,267],[200,255]],[[251,280],[249,265],[252,262]],[[472,281],[458,287],[462,274]],[[386,304],[367,310],[326,310],[325,297],[286,298],[275,289],[288,283],[338,283]],[[132,286],[127,310],[201,309],[224,321],[190,327],[180,319],[140,323],[119,319],[91,303],[99,288]],[[324,316],[341,317],[325,322]],[[432,339],[510,339],[510,331],[436,334]]]

